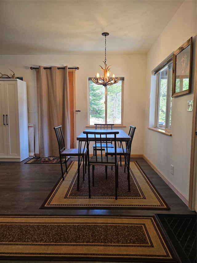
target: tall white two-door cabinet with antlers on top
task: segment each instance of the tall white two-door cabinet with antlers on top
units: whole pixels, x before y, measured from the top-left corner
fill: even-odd
[[[0,161],[29,157],[26,82],[0,79]]]

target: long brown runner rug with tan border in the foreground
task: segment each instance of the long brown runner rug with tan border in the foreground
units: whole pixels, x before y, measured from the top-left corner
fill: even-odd
[[[0,258],[177,262],[154,217],[0,216]]]

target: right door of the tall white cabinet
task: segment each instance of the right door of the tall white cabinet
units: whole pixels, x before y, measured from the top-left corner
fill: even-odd
[[[20,156],[17,82],[5,81],[7,157]]]

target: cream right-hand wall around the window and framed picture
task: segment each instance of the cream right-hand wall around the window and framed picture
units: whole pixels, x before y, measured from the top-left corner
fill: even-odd
[[[197,33],[196,11],[196,1],[183,2],[182,6],[147,53],[146,71],[144,155],[160,171],[161,175],[175,187],[186,202],[189,196],[193,114],[193,112],[187,111],[187,101],[193,99],[194,93]],[[193,37],[191,93],[172,98],[172,136],[149,130],[147,127],[153,122],[153,109],[155,106],[155,84],[153,82],[151,84],[151,71],[191,36]],[[174,166],[174,175],[171,175],[171,165]]]

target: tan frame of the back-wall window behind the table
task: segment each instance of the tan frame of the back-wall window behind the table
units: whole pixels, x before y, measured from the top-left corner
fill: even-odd
[[[121,123],[114,123],[114,126],[123,126],[124,124],[124,77],[120,77],[122,82],[121,87]],[[90,81],[92,81],[91,77],[88,77],[88,126],[94,126],[90,124]],[[100,86],[100,85],[99,85]],[[107,87],[105,87],[105,121],[107,121]],[[107,123],[107,122],[105,122]]]

